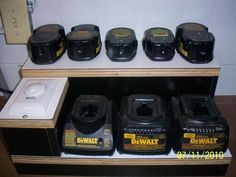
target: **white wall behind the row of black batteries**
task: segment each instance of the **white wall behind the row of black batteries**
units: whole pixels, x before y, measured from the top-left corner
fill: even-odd
[[[205,24],[215,35],[215,60],[222,67],[216,94],[236,95],[235,0],[36,0],[36,2],[36,9],[32,14],[35,28],[47,23],[59,23],[65,27],[67,33],[74,25],[92,23],[100,27],[103,40],[109,29],[120,26],[133,28],[137,38],[141,40],[144,30],[150,27],[167,27],[174,33],[175,27],[183,22],[194,21]],[[2,39],[0,42],[1,65],[6,62],[17,65],[24,62],[27,54],[24,46],[5,46]],[[8,83],[11,82],[9,80]]]

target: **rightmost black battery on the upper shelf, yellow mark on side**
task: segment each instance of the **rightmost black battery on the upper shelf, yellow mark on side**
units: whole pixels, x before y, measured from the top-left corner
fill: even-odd
[[[214,58],[214,35],[198,23],[184,23],[176,28],[176,50],[190,63],[208,63]]]

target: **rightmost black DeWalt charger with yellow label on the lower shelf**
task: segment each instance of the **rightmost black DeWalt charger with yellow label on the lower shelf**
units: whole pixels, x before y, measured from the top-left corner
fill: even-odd
[[[229,126],[211,97],[204,95],[173,97],[172,108],[175,153],[227,150]]]

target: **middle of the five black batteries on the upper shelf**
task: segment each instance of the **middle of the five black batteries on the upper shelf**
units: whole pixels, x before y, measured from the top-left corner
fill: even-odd
[[[112,61],[130,61],[136,55],[138,42],[134,30],[114,28],[107,32],[105,46]]]

